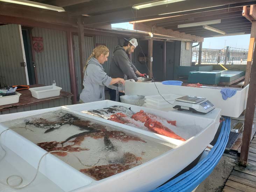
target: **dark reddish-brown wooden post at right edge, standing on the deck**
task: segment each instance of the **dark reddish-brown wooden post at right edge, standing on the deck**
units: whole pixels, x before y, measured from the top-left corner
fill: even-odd
[[[244,120],[244,128],[243,128],[243,138],[242,138],[242,146],[241,146],[241,154],[240,154],[240,162],[241,166],[246,167],[248,152],[251,142],[251,130],[253,127],[253,119],[255,112],[255,102],[256,102],[256,43],[254,45],[254,53],[253,53],[253,63],[251,66],[251,79],[250,86],[248,90],[247,97],[247,105],[246,105],[246,115]]]

